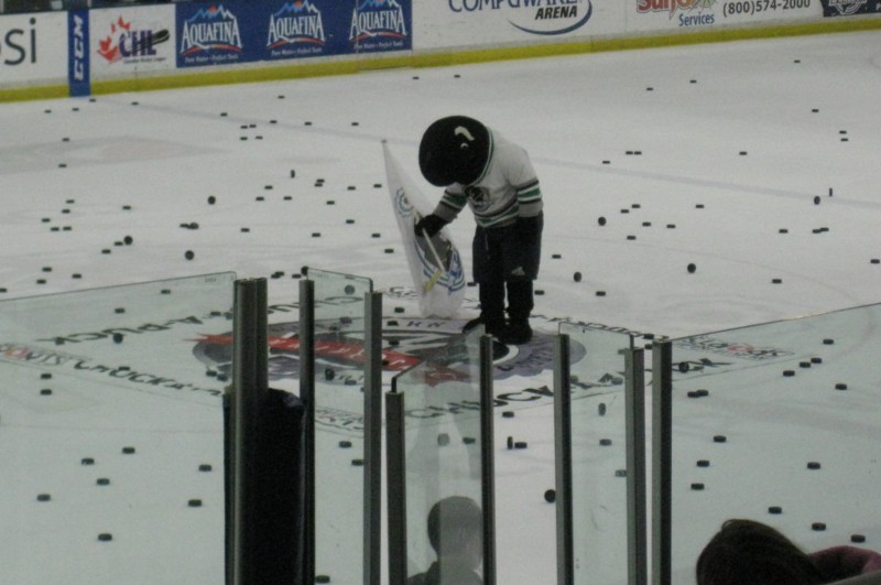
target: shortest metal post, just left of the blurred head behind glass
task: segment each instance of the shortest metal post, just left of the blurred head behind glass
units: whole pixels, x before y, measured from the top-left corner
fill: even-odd
[[[404,396],[398,378],[385,394],[385,476],[389,501],[389,585],[406,583],[406,459]]]

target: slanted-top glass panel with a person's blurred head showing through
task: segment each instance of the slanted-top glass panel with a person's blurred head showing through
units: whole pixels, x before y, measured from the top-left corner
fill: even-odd
[[[480,573],[480,335],[458,337],[396,377],[405,412],[410,576],[439,570],[449,583],[467,584]]]

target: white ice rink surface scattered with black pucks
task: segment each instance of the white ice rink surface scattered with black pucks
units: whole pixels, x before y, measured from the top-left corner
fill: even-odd
[[[466,113],[525,145],[541,178],[540,334],[570,318],[681,337],[875,303],[879,41],[881,33],[862,32],[4,104],[0,299],[235,271],[276,274],[270,294],[281,305],[296,297],[291,275],[312,266],[373,279],[387,293],[385,313],[409,323],[418,315],[380,141],[418,178],[422,130]],[[468,264],[472,221],[466,213],[450,228]],[[475,296],[461,319],[474,315]],[[100,331],[68,329],[65,318],[57,335]],[[94,321],[100,324],[97,314]],[[453,332],[458,324],[436,325]],[[835,346],[835,359],[823,346],[812,355],[836,368],[850,364],[844,349],[877,336],[869,325],[841,332],[848,342]],[[218,324],[194,329],[225,333]],[[176,347],[191,351],[192,343]],[[676,583],[690,583],[699,545],[724,519],[761,519],[772,503],[784,507],[776,526],[805,548],[860,532],[866,546],[881,549],[877,497],[856,491],[868,500],[861,519],[846,505],[853,477],[878,472],[867,452],[881,435],[863,419],[877,411],[872,367],[852,364],[855,392],[833,405],[825,401],[839,396],[786,394],[791,409],[766,410],[780,401],[768,398],[781,381],[770,366],[741,378],[766,387],[683,399],[683,430],[693,436],[677,443],[687,453],[681,465],[692,465],[707,436],[727,433],[729,443],[719,454],[708,449],[720,445],[706,445],[710,454],[700,458],[713,466],[695,469],[699,479],[688,477],[674,494],[674,502],[694,507],[676,517],[688,534],[674,551]],[[58,381],[52,397],[23,397],[39,392],[39,370],[21,379],[12,370],[3,367],[0,394],[0,506],[15,527],[4,531],[0,566],[12,567],[12,577],[3,581],[219,583],[221,486],[192,472],[205,459],[215,476],[222,468],[217,412],[174,392],[115,392],[97,381],[69,390]],[[812,369],[811,379],[823,371]],[[497,392],[550,383],[547,370],[512,375]],[[62,411],[47,412],[44,398]],[[543,498],[553,485],[552,409],[545,400],[514,405],[518,415],[496,426],[499,583],[543,583],[555,575],[554,507]],[[510,435],[529,449],[507,451]],[[128,444],[140,447],[134,458],[119,455]],[[113,457],[109,486],[84,473],[87,454]],[[148,467],[132,463],[141,461]],[[808,483],[817,476],[805,475],[806,461],[823,463],[820,485]],[[730,472],[741,468],[742,484],[732,485]],[[693,492],[693,480],[707,489]],[[37,502],[41,492],[52,500]],[[205,505],[189,508],[193,497]],[[194,522],[195,514],[204,519]],[[812,531],[816,520],[828,530]],[[113,541],[97,540],[105,531]]]

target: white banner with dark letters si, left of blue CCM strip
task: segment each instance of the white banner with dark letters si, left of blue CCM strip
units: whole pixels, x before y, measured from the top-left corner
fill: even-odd
[[[67,76],[67,14],[0,17],[0,86]]]

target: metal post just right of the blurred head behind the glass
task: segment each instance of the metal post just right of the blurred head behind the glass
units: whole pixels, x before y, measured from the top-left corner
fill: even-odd
[[[483,508],[483,584],[496,585],[496,470],[493,459],[492,337],[480,337],[480,468]]]

